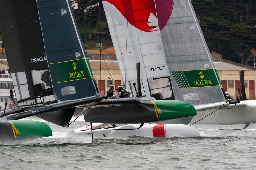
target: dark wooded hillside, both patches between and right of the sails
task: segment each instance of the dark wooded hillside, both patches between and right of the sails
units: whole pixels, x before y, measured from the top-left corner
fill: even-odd
[[[73,0],[72,0],[73,1]],[[72,2],[71,1],[71,2]],[[191,0],[210,52],[252,66],[256,57],[255,0]],[[74,0],[76,21],[87,49],[112,46],[101,0]],[[95,37],[97,33],[107,36]]]

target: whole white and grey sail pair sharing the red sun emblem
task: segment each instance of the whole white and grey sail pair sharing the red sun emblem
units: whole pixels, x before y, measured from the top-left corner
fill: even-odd
[[[134,92],[140,62],[147,97],[224,100],[190,0],[103,0],[103,6],[126,88]]]

